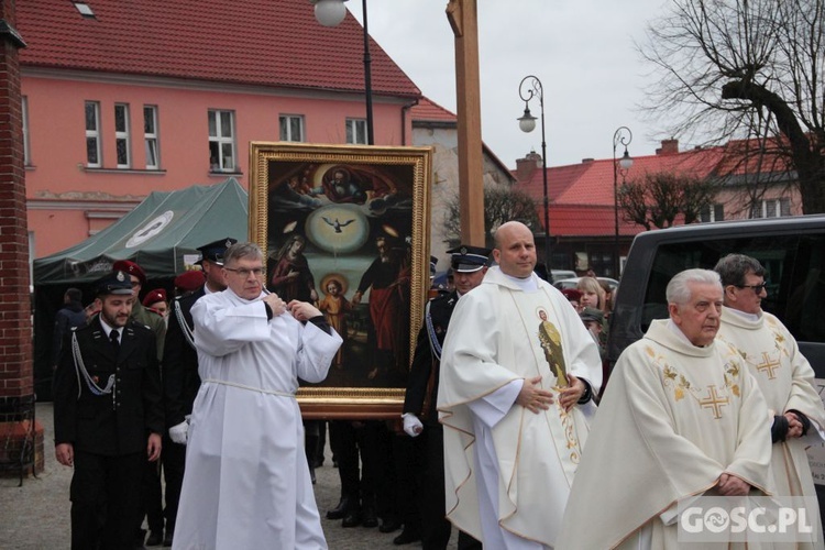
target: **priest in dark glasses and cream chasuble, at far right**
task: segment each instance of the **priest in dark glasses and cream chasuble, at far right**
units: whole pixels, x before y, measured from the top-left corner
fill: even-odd
[[[768,403],[772,446],[771,470],[778,496],[806,496],[812,509],[807,517],[818,520],[811,466],[805,448],[822,443],[825,409],[814,387],[814,370],[800,353],[791,332],[771,314],[762,311],[767,297],[765,267],[744,254],[728,254],[714,267],[722,277],[724,306],[719,338],[737,349]],[[825,548],[822,530],[816,541],[791,548]]]

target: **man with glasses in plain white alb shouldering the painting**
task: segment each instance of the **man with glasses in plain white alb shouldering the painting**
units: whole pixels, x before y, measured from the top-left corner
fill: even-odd
[[[295,393],[298,376],[327,376],[341,338],[314,306],[263,290],[257,245],[223,262],[228,288],[191,308],[202,383],[174,548],[327,548]]]

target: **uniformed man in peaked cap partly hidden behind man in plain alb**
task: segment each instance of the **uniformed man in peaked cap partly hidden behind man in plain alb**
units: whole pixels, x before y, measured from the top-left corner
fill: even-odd
[[[166,480],[166,535],[164,546],[172,546],[175,532],[177,505],[184,483],[186,462],[186,437],[188,418],[200,388],[198,376],[198,353],[193,342],[193,305],[206,294],[227,288],[223,279],[223,254],[238,240],[226,238],[199,248],[199,264],[206,274],[206,283],[193,293],[175,298],[169,308],[169,327],[163,354],[163,389],[166,406],[166,428],[164,435],[164,477]],[[177,279],[176,279],[177,280]]]

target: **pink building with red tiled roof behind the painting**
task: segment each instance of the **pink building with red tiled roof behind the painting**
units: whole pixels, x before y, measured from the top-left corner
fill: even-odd
[[[249,142],[365,143],[363,28],[307,0],[16,3],[34,257],[152,190],[235,177]],[[374,142],[409,145],[421,94],[371,40]]]

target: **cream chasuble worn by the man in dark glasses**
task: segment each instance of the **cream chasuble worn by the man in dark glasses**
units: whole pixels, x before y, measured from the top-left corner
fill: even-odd
[[[805,453],[806,447],[822,442],[825,428],[825,409],[814,386],[814,370],[785,326],[765,311],[751,319],[723,307],[717,338],[736,348],[759,384],[770,411],[766,430],[770,430],[774,415],[789,410],[799,410],[811,420],[805,437],[772,446],[771,470],[778,496],[812,497],[809,517],[816,521],[814,531],[820,535],[818,540],[789,548],[825,548],[816,488]]]

